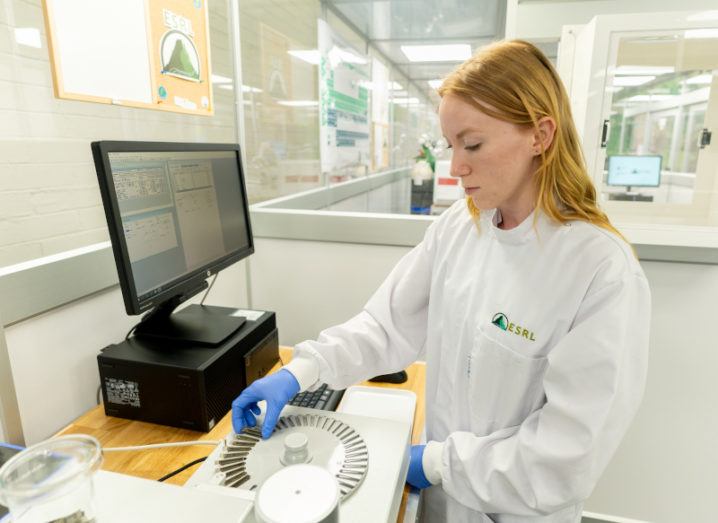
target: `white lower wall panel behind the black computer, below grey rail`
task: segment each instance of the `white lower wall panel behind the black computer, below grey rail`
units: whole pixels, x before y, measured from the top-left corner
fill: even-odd
[[[245,262],[219,273],[205,304],[247,307]],[[5,328],[26,444],[52,436],[96,405],[97,354],[122,341],[137,321],[114,287]]]

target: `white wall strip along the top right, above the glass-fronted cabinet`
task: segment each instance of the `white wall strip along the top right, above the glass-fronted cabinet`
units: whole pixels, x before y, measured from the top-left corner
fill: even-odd
[[[507,34],[515,38],[558,39],[561,27],[585,24],[596,15],[620,13],[655,13],[658,11],[715,10],[715,0],[596,0],[564,1],[537,0],[519,2],[515,27],[507,27]],[[507,17],[507,23],[513,21]]]

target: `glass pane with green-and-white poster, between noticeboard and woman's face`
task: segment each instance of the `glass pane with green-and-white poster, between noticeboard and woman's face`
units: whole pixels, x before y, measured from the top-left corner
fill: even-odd
[[[239,8],[251,203],[411,166],[437,134],[426,96],[319,0]]]

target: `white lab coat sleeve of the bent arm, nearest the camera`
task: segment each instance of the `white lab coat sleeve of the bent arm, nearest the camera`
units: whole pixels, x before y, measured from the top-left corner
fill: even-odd
[[[545,515],[585,500],[638,409],[649,321],[642,274],[589,290],[548,355],[544,405],[518,427],[431,442],[427,477],[489,514]]]

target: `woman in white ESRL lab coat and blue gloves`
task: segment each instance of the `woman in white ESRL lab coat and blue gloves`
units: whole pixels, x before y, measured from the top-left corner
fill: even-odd
[[[636,412],[650,293],[596,203],[566,92],[523,41],[478,52],[439,89],[459,201],[364,310],[295,349],[233,404],[268,400],[265,435],[300,388],[341,389],[425,350],[426,446],[408,482],[425,521],[578,522]]]

